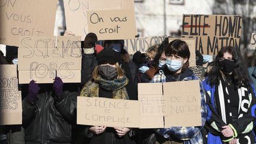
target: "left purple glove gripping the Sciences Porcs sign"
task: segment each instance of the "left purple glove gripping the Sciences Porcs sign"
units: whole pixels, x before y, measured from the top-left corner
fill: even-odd
[[[39,85],[34,80],[30,81],[30,84],[28,85],[28,101],[30,103],[34,103],[36,101],[39,89]]]

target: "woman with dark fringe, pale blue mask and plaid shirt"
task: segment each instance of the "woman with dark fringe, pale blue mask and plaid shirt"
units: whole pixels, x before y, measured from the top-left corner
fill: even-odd
[[[167,57],[166,64],[162,66],[151,82],[174,82],[190,81],[198,78],[188,68],[190,51],[187,43],[182,40],[174,40],[164,49]],[[204,100],[203,86],[200,84],[201,93],[201,123],[198,127],[169,127],[168,129],[158,129],[159,135],[165,139],[156,143],[203,143],[200,130],[203,128],[207,117],[206,101]]]

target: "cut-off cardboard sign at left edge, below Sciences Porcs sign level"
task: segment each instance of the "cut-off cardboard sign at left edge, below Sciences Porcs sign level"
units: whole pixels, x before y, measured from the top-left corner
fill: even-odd
[[[0,65],[0,114],[0,125],[22,123],[17,65]]]

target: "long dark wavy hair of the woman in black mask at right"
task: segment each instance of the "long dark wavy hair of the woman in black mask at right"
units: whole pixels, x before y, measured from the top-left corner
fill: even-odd
[[[235,82],[236,87],[240,87],[241,85],[249,85],[249,82],[251,82],[247,66],[244,60],[242,59],[241,53],[239,51],[238,47],[223,47],[219,53],[216,56],[215,61],[213,62],[213,66],[211,71],[208,73],[208,82],[213,87],[213,85],[219,85],[220,76],[223,75],[223,73],[220,71],[219,68],[219,59],[223,57],[224,53],[230,53],[233,57],[233,60],[235,62],[235,69],[233,69],[232,72],[232,79],[233,82]]]

